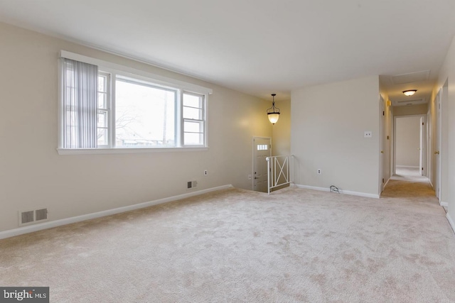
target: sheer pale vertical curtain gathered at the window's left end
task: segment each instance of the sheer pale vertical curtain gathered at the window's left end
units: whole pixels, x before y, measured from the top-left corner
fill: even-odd
[[[98,67],[63,58],[63,148],[97,147]]]

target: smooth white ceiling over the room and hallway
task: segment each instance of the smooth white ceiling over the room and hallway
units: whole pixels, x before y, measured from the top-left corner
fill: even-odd
[[[0,21],[263,99],[380,75],[392,102],[405,89],[428,101],[455,35],[455,1],[0,0]]]

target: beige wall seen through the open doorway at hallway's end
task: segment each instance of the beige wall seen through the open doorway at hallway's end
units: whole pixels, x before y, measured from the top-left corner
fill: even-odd
[[[420,117],[397,117],[396,165],[419,167]]]

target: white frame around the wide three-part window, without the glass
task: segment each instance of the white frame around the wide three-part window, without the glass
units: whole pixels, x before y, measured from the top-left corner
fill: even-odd
[[[160,75],[151,74],[143,70],[136,70],[132,67],[117,65],[112,62],[98,60],[92,57],[70,53],[65,50],[60,51],[60,57],[77,60],[80,62],[97,65],[100,72],[110,75],[110,85],[108,84],[108,111],[109,111],[109,145],[102,145],[98,148],[63,148],[63,77],[59,75],[59,108],[58,108],[58,153],[60,155],[79,155],[79,154],[104,154],[104,153],[155,153],[155,152],[181,152],[181,151],[198,151],[208,149],[208,95],[212,94],[213,90],[207,87],[201,87],[197,84],[182,82],[180,80],[163,77]],[[61,72],[61,69],[59,69]],[[120,77],[128,77],[140,82],[152,84],[155,87],[163,89],[176,90],[176,146],[163,148],[125,148],[115,147],[115,82],[117,75]],[[203,145],[184,145],[183,144],[183,94],[194,94],[203,97],[203,124],[204,124],[204,142]]]

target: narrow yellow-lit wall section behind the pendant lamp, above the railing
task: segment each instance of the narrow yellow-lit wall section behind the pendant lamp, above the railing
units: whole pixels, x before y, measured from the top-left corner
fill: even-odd
[[[276,98],[275,98],[276,99]],[[273,155],[289,155],[291,153],[291,101],[275,101],[281,114],[273,126],[272,153]]]

